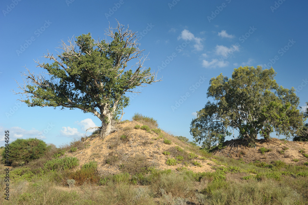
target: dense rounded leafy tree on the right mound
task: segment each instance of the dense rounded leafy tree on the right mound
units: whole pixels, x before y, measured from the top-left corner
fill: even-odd
[[[234,69],[232,78],[220,74],[210,80],[208,102],[191,122],[190,133],[196,141],[211,146],[223,141],[234,129],[239,138],[257,139],[257,134],[269,138],[270,133],[293,136],[303,125],[303,113],[298,110],[299,98],[276,83],[273,68],[260,66]]]

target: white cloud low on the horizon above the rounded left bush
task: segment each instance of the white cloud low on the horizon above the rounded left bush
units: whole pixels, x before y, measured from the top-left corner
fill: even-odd
[[[10,141],[14,141],[18,138],[37,138],[37,139],[46,139],[43,135],[43,131],[39,131],[37,129],[32,128],[31,130],[22,129],[21,127],[11,127],[10,129],[4,129],[2,126],[0,127],[0,141],[4,141],[5,135],[4,130],[10,131]],[[3,135],[2,135],[3,133]]]

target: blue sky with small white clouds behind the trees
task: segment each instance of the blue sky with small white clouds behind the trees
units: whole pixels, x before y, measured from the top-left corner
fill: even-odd
[[[25,1],[0,2],[1,67],[0,141],[9,130],[11,140],[37,137],[60,146],[83,136],[100,120],[81,110],[27,107],[17,101],[20,72],[43,70],[33,59],[47,50],[56,54],[60,41],[91,33],[105,38],[115,18],[139,34],[139,43],[161,82],[128,93],[124,119],[134,113],[155,118],[160,128],[192,139],[194,113],[208,100],[209,80],[230,77],[239,66],[273,66],[278,84],[294,87],[300,105],[307,91],[307,1]],[[47,62],[47,61],[46,61]],[[135,89],[138,91],[138,88]],[[2,145],[1,145],[2,146]]]

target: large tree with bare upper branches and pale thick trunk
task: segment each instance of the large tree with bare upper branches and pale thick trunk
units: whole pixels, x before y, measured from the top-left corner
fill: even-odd
[[[62,52],[43,56],[52,63],[35,61],[47,73],[35,75],[27,69],[22,73],[24,84],[18,84],[22,92],[15,93],[25,94],[20,100],[29,107],[78,108],[93,113],[102,121],[102,135],[113,132],[119,114],[121,120],[129,103],[124,94],[160,79],[156,80],[157,73],[151,73],[151,68],[143,67],[147,55],[138,48],[136,32],[118,22],[116,28],[109,26],[105,35],[106,40],[101,41],[95,41],[90,33],[68,43],[62,41]],[[134,60],[136,64],[131,63]]]

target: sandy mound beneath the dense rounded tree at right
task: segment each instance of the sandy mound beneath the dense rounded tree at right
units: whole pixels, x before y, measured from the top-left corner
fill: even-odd
[[[307,162],[308,142],[295,142],[272,138],[270,140],[257,140],[256,146],[248,146],[247,142],[241,140],[230,140],[224,143],[224,149],[214,151],[215,155],[228,156],[244,162],[273,162],[281,160],[288,164],[302,164]],[[264,154],[260,148],[267,148]]]

